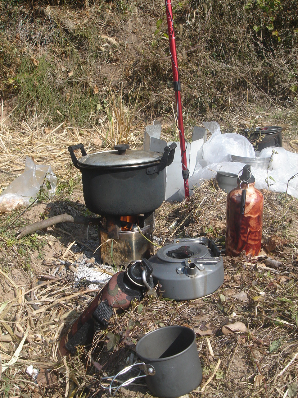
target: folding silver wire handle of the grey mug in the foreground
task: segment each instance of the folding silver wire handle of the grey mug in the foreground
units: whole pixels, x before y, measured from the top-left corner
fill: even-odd
[[[124,375],[124,373],[129,372],[131,369],[133,369],[136,366],[138,366],[140,369],[137,376],[131,377],[128,380],[125,380],[124,382],[120,382],[121,384],[119,384],[118,386],[113,386],[113,383],[115,381],[116,382],[118,381],[117,379],[119,376]],[[141,375],[141,371],[144,371],[145,375]],[[155,369],[152,365],[147,365],[145,362],[137,362],[137,363],[134,363],[133,365],[127,366],[126,368],[122,369],[122,371],[118,372],[117,375],[110,376],[110,377],[102,377],[100,380],[100,385],[105,390],[108,390],[110,395],[114,396],[120,387],[128,386],[128,384],[134,382],[135,380],[137,380],[139,378],[146,377],[146,376],[154,376],[154,375],[155,375]],[[108,386],[103,385],[104,380],[111,380],[110,382],[108,382],[109,383]],[[112,390],[113,390],[113,393],[112,393]]]

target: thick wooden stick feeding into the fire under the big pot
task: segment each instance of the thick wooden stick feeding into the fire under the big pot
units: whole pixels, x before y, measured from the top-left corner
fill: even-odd
[[[100,217],[83,217],[83,216],[71,216],[67,213],[60,214],[58,216],[50,217],[46,220],[33,222],[33,224],[29,224],[24,226],[18,231],[17,238],[21,239],[26,235],[32,234],[33,232],[39,231],[44,228],[48,228],[49,226],[58,224],[59,222],[73,222],[74,224],[83,224],[83,225],[98,225]]]

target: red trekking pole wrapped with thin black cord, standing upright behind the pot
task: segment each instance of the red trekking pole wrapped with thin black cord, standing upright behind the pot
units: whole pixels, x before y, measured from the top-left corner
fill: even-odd
[[[179,131],[179,140],[180,140],[182,177],[184,179],[184,194],[185,197],[190,197],[190,191],[188,187],[188,176],[190,172],[187,168],[187,160],[186,160],[187,141],[184,137],[182,105],[181,105],[181,96],[180,96],[181,84],[179,80],[179,70],[178,70],[177,53],[176,53],[175,33],[174,33],[174,21],[172,16],[172,4],[171,0],[165,0],[165,3],[166,3],[166,20],[168,23],[169,52],[172,60],[173,83],[174,83],[173,85],[174,85],[176,108],[177,108],[176,112],[177,112],[178,131]]]

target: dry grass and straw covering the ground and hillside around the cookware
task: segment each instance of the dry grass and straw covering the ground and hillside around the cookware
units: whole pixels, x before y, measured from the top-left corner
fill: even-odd
[[[145,124],[159,118],[162,138],[171,140],[175,121],[169,116],[174,93],[163,3],[89,1],[83,11],[70,8],[77,4],[72,1],[47,3],[32,2],[32,8],[31,2],[21,2],[21,7],[19,2],[1,3],[7,39],[1,36],[0,187],[23,172],[26,156],[50,164],[58,183],[52,199],[39,195],[29,208],[0,215],[0,396],[106,396],[99,378],[132,360],[144,333],[185,324],[197,332],[203,367],[202,383],[190,398],[297,397],[298,202],[285,202],[284,195],[271,192],[264,209],[262,256],[223,257],[225,279],[217,292],[182,303],[146,296],[112,318],[110,335],[95,336],[92,347],[57,359],[64,327],[96,293],[87,281],[75,283],[74,274],[82,258],[101,266],[97,232],[62,224],[22,240],[15,233],[50,215],[88,213],[69,145],[82,142],[92,153],[129,137],[132,148],[141,147]],[[269,15],[255,4],[249,2],[248,11],[244,2],[213,0],[176,7],[186,137],[202,121],[224,123],[223,131],[282,125],[284,146],[298,152],[297,35],[290,26],[297,7],[287,1],[287,14],[274,11],[274,23],[280,23],[275,26],[278,44],[268,29],[253,30]],[[288,19],[282,20],[283,15]],[[23,93],[23,101],[17,93]],[[205,181],[189,201],[164,203],[157,210],[156,241],[163,245],[178,236],[208,236],[221,246],[225,206],[226,195],[215,181]],[[222,327],[234,321],[243,322],[248,332],[224,335]],[[113,335],[118,342],[108,351],[106,341]],[[37,382],[26,373],[29,365],[39,371]],[[120,396],[149,394],[137,384]]]

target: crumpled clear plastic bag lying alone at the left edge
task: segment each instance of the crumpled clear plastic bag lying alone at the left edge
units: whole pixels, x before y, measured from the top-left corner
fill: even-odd
[[[0,213],[14,210],[18,206],[28,206],[41,187],[46,196],[51,197],[56,190],[57,178],[51,166],[36,166],[26,156],[25,170],[0,195]]]

